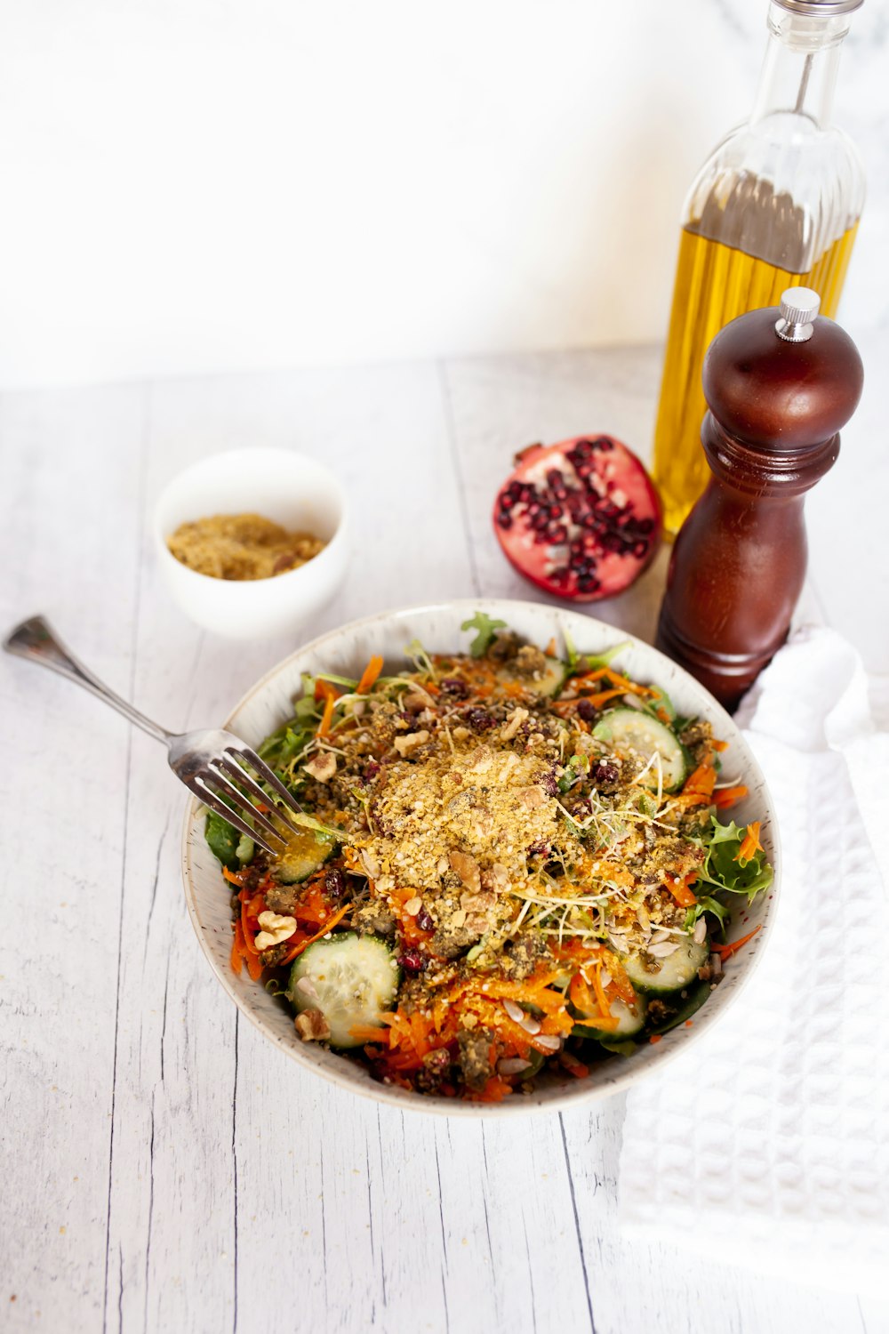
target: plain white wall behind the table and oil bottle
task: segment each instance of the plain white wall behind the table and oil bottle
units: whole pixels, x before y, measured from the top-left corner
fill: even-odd
[[[765,0],[0,0],[0,387],[662,338]],[[886,317],[886,15],[838,121]]]

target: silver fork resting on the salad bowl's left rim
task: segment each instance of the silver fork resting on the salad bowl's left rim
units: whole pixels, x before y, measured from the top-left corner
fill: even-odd
[[[263,806],[269,806],[268,794],[247,772],[245,766],[249,766],[263,783],[268,783],[287,807],[287,810],[281,810],[276,802],[273,807],[276,816],[291,832],[300,832],[299,816],[303,815],[303,808],[299,802],[256,751],[233,732],[219,727],[179,735],[159,727],[151,718],[145,718],[113,690],[104,686],[83,663],[79,663],[43,616],[31,616],[29,620],[23,620],[7,635],[3,647],[8,654],[43,663],[44,667],[51,667],[61,676],[67,676],[68,680],[76,682],[116,708],[136,727],[141,727],[155,740],[163,742],[167,747],[169,767],[189,792],[200,798],[212,811],[224,816],[240,834],[252,838],[267,852],[280,851],[287,844],[287,838],[251,800],[252,796]],[[289,812],[296,815],[297,820],[293,820]],[[273,846],[275,842],[280,844],[279,848]]]

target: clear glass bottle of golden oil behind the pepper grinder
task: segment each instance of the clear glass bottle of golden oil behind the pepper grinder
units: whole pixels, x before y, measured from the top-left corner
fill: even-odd
[[[668,531],[704,490],[704,354],[725,324],[777,304],[790,285],[816,288],[836,313],[864,173],[854,148],[828,128],[842,39],[862,0],[772,0],[769,44],[750,120],[698,173],[680,239],[654,480]]]

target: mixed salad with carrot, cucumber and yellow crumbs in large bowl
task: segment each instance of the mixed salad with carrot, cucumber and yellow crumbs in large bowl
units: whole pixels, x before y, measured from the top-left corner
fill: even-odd
[[[760,823],[726,814],[710,724],[568,642],[464,623],[468,651],[304,676],[260,747],[303,810],[269,855],[221,816],[232,968],[305,1042],[420,1094],[500,1101],[585,1078],[690,1022],[772,883]],[[272,818],[279,798],[269,788]],[[750,932],[750,935],[754,932]]]

